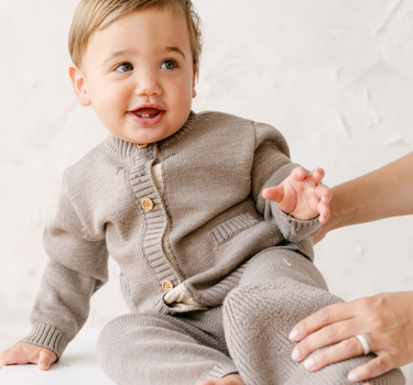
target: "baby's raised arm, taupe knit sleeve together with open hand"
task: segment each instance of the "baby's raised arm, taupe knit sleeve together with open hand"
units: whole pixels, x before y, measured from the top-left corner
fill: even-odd
[[[253,123],[253,128],[256,138],[251,193],[256,200],[256,208],[265,221],[279,228],[285,240],[294,243],[304,241],[322,226],[318,213],[320,213],[322,221],[328,217],[328,206],[327,211],[324,206],[328,197],[324,198],[322,205],[314,205],[318,198],[315,201],[312,200],[312,209],[307,210],[308,205],[303,200],[305,194],[304,196],[297,195],[295,191],[302,189],[304,185],[313,197],[324,191],[323,197],[328,190],[324,186],[318,186],[324,172],[318,169],[306,176],[303,167],[291,162],[289,146],[278,130],[269,124],[257,122]],[[265,194],[263,194],[264,190]],[[314,206],[319,206],[322,212]]]

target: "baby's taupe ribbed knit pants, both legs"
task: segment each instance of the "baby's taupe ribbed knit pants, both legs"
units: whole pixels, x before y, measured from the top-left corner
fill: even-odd
[[[291,329],[338,301],[312,262],[294,251],[269,249],[248,263],[224,306],[173,316],[131,314],[110,321],[98,340],[98,361],[119,385],[197,385],[230,373],[239,373],[246,385],[354,384],[348,372],[373,354],[315,373],[291,359]],[[393,370],[370,383],[405,381]]]

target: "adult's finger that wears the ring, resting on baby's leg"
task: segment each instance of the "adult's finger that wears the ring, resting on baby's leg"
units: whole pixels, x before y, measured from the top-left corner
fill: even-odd
[[[304,361],[304,367],[309,372],[316,372],[324,366],[361,355],[362,353],[363,349],[360,341],[356,337],[352,337],[309,356]]]

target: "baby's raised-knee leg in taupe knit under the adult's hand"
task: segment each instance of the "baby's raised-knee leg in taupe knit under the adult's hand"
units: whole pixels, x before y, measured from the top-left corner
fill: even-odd
[[[359,356],[311,373],[295,363],[292,328],[318,309],[341,301],[327,292],[312,262],[289,250],[269,250],[250,261],[238,288],[224,305],[228,348],[246,385],[354,384],[347,374],[374,355]],[[372,385],[402,385],[399,370]],[[360,383],[358,383],[360,384]]]

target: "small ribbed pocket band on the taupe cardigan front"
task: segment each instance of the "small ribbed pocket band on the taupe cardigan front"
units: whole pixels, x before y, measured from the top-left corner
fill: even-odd
[[[249,229],[257,223],[259,223],[259,221],[256,218],[249,213],[243,213],[218,224],[208,233],[214,250],[218,249],[224,242],[227,242],[241,231]]]

